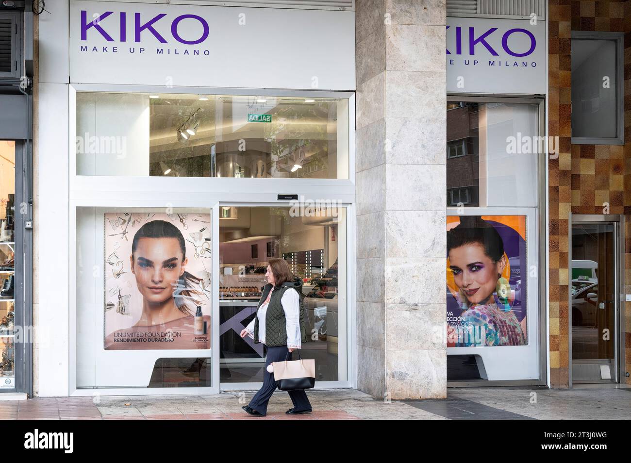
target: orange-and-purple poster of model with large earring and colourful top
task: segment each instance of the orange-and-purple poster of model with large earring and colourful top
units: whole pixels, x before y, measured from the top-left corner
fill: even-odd
[[[528,344],[526,216],[447,217],[447,346]]]

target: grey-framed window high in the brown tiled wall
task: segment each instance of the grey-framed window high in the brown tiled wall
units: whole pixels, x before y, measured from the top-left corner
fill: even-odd
[[[572,32],[572,143],[623,144],[623,36]]]

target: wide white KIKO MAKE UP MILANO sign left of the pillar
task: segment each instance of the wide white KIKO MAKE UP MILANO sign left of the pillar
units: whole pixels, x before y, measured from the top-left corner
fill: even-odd
[[[355,88],[351,11],[69,0],[69,29],[73,83]]]

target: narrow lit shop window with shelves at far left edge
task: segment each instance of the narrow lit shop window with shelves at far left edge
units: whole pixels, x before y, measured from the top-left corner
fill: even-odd
[[[15,141],[0,141],[0,391],[15,389]],[[19,342],[19,340],[18,340]]]

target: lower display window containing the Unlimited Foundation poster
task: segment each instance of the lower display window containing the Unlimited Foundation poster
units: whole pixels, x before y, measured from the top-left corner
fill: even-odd
[[[78,387],[209,386],[206,355],[190,351],[211,348],[210,211],[80,208],[77,218]]]

